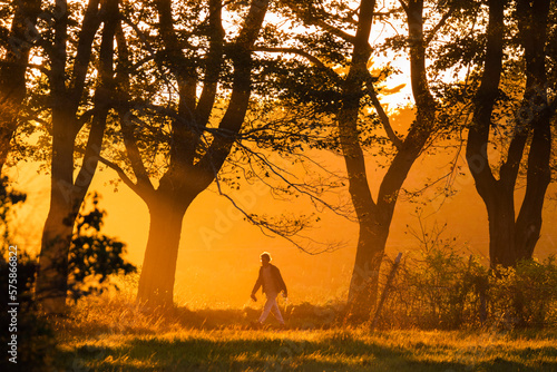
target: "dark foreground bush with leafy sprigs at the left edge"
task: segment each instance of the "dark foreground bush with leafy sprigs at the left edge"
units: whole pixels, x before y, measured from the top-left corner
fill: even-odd
[[[56,339],[49,320],[42,316],[36,307],[32,298],[35,274],[37,272],[37,258],[17,249],[17,265],[10,265],[10,260],[16,262],[16,256],[8,252],[10,247],[9,223],[13,214],[13,206],[23,203],[25,194],[9,190],[2,179],[0,187],[0,322],[2,330],[9,330],[10,324],[17,320],[16,332],[0,333],[0,343],[7,345],[11,334],[17,335],[17,364],[2,359],[1,370],[19,371],[51,371],[56,349]],[[99,235],[102,226],[105,212],[97,206],[98,196],[92,198],[94,208],[88,214],[80,214],[77,219],[76,233],[70,248],[70,276],[69,288],[72,298],[84,295],[100,293],[111,285],[107,278],[111,274],[128,274],[135,267],[121,258],[125,245],[105,235]],[[11,249],[16,251],[16,249]],[[13,258],[9,258],[9,256]],[[10,267],[12,267],[10,270]],[[13,267],[17,267],[17,277],[13,276]],[[13,278],[17,282],[10,283]],[[85,283],[88,282],[88,283]],[[92,284],[91,284],[92,283]],[[12,285],[10,287],[10,284]],[[9,292],[17,287],[17,294]],[[13,297],[11,297],[13,295]],[[18,306],[8,305],[18,303]],[[8,310],[16,307],[17,317],[13,319]]]

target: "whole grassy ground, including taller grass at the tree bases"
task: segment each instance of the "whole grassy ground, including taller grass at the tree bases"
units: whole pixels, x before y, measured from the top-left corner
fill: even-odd
[[[87,300],[58,321],[63,371],[557,371],[557,331],[344,327],[328,310],[291,312],[291,329],[251,330],[257,310],[143,312]],[[297,316],[297,319],[295,319]]]

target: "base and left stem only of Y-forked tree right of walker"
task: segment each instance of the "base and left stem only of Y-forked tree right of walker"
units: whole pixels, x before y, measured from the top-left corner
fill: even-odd
[[[374,223],[375,202],[370,192],[365,170],[365,157],[360,146],[358,119],[363,85],[368,74],[368,60],[371,56],[369,36],[373,19],[374,0],[363,0],[360,6],[359,23],[353,42],[350,71],[343,86],[342,108],[338,116],[340,145],[346,174],[349,192],[358,216],[360,232],[358,237],[356,258],[349,292],[349,315],[367,319],[377,296],[377,273],[383,257],[384,239],[377,234]]]

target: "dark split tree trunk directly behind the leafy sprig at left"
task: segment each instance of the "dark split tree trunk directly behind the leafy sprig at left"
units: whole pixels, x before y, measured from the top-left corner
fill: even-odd
[[[90,61],[91,43],[100,25],[98,2],[88,4],[84,18],[75,62],[75,88],[66,87],[66,39],[68,13],[63,12],[56,23],[57,53],[52,58],[52,160],[50,183],[50,209],[42,232],[39,270],[37,275],[37,301],[49,314],[60,314],[66,307],[68,288],[68,255],[74,225],[79,208],[95,175],[108,115],[107,97],[113,85],[114,35],[118,21],[118,0],[105,3],[105,27],[99,53],[98,72],[100,84],[95,91],[94,116],[89,138],[79,174],[74,180],[74,146],[80,129],[77,119],[79,98],[84,92],[85,75]],[[66,8],[65,8],[66,10]],[[80,69],[81,68],[81,69]],[[81,88],[79,88],[81,86]]]

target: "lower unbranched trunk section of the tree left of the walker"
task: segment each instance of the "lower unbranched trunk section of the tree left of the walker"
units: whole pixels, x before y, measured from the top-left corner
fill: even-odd
[[[182,222],[187,206],[158,195],[149,205],[149,236],[139,277],[137,301],[150,307],[172,307]]]

